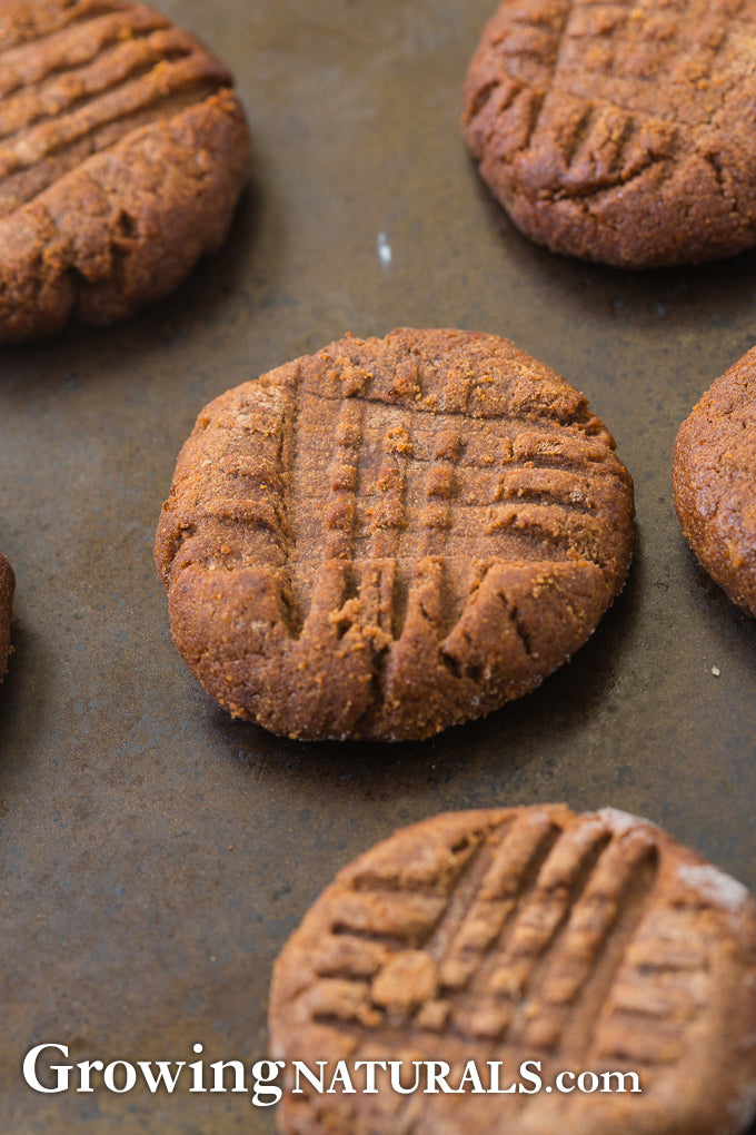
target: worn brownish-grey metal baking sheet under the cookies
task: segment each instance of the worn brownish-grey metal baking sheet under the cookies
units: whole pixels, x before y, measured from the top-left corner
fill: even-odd
[[[447,808],[566,800],[662,824],[756,889],[756,623],[688,552],[679,422],[756,342],[756,255],[630,275],[551,257],[458,129],[493,0],[165,0],[235,70],[255,159],[226,249],[108,330],[0,356],[0,1129],[267,1135],[243,1094],[40,1095],[84,1059],[250,1062],[270,968],[333,872]],[[390,255],[389,255],[390,250]],[[630,581],[543,688],[424,743],[300,745],[231,721],[177,657],[151,561],[206,401],[346,330],[513,338],[591,398],[636,481]],[[719,676],[714,673],[719,671]]]

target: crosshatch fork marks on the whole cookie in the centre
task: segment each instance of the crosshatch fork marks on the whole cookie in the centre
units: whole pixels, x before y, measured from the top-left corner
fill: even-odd
[[[600,555],[604,521],[598,502],[605,496],[601,486],[617,470],[604,460],[591,460],[593,449],[602,457],[605,449],[589,436],[581,438],[569,429],[563,435],[554,432],[551,417],[545,422],[525,413],[520,417],[513,405],[511,417],[496,419],[498,427],[491,419],[478,420],[478,426],[496,434],[479,443],[470,435],[468,444],[456,414],[387,406],[362,393],[339,401],[322,394],[313,400],[307,390],[297,401],[296,434],[307,438],[308,453],[322,454],[316,461],[325,469],[321,479],[314,468],[305,471],[298,465],[294,473],[297,491],[289,497],[297,532],[289,553],[290,570],[303,611],[314,585],[317,548],[325,560],[349,561],[357,597],[363,578],[366,591],[374,596],[369,565],[384,565],[394,639],[404,628],[411,565],[424,556],[438,560],[439,587],[448,594],[445,565],[459,562],[458,579],[470,541],[481,543],[481,554],[487,545],[491,555],[510,560],[544,558],[545,547],[546,556],[561,560],[576,539],[583,554]],[[324,406],[330,411],[326,418]],[[501,491],[495,489],[500,478],[494,478],[492,487],[496,464],[486,463],[489,459],[476,451],[476,446],[494,446],[495,436],[506,442],[504,468],[511,469]],[[570,498],[560,470],[570,476],[575,462],[579,462],[584,489],[576,481]],[[498,464],[501,468],[501,461]],[[587,496],[586,486],[594,481],[595,493]],[[584,514],[579,522],[570,515],[577,512]]]

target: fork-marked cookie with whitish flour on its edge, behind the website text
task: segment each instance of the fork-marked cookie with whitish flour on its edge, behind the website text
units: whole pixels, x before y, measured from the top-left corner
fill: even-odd
[[[756,1110],[756,905],[613,809],[436,816],[315,901],[270,1037],[284,1133],[733,1135]]]

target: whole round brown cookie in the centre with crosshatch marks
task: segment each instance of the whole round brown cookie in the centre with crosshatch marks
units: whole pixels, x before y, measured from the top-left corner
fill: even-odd
[[[216,398],[155,562],[220,705],[401,740],[536,687],[625,580],[632,486],[586,400],[507,339],[346,336]]]

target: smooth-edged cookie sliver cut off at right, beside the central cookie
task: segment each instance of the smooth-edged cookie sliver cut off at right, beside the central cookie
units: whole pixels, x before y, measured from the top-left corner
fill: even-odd
[[[703,566],[756,616],[756,347],[716,379],[680,427],[672,491]]]

